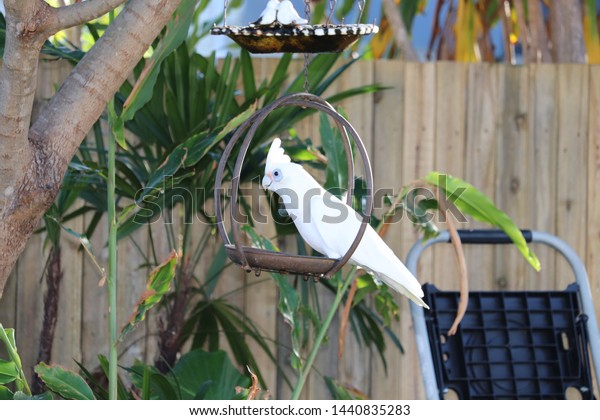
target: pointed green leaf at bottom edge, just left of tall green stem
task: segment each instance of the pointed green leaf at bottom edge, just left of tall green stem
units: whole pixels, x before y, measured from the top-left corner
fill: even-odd
[[[94,393],[81,376],[61,366],[40,363],[35,367],[48,389],[65,400],[94,400]]]

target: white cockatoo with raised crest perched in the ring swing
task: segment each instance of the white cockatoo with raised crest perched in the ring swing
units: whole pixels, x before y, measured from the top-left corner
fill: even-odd
[[[262,186],[281,197],[298,232],[313,249],[329,258],[340,258],[350,249],[362,217],[325,191],[301,165],[292,163],[278,138],[273,140],[267,155]],[[428,308],[417,279],[370,225],[350,262],[371,273],[376,281]]]

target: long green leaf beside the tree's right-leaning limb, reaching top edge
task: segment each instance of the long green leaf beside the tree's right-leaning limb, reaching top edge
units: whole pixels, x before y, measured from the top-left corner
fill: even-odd
[[[133,87],[133,91],[123,106],[123,113],[121,114],[123,121],[131,120],[135,113],[152,98],[161,63],[185,41],[194,16],[195,5],[196,0],[183,0],[175,11],[173,18],[167,23],[164,37],[146,63],[142,74]]]

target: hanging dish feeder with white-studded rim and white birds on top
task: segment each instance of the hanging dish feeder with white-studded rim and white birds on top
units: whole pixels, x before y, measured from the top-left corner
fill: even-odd
[[[364,0],[358,1],[360,13],[355,24],[330,23],[336,0],[329,1],[329,15],[323,25],[310,25],[310,0],[305,2],[306,19],[301,19],[295,11],[296,18],[290,18],[286,13],[281,16],[273,12],[272,18],[263,19],[263,15],[254,23],[247,26],[228,26],[227,8],[229,1],[224,4],[224,24],[214,26],[212,35],[226,35],[242,48],[259,54],[269,53],[335,53],[344,51],[365,35],[376,34],[376,25],[359,23],[364,9]],[[270,2],[269,2],[270,3]],[[275,3],[275,2],[274,2]],[[284,0],[281,5],[289,7],[291,3]],[[269,6],[267,6],[269,7]],[[283,6],[280,6],[283,7]]]

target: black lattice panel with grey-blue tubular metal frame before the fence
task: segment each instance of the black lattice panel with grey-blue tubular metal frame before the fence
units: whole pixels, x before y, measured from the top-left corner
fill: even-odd
[[[585,267],[559,238],[523,233],[528,242],[549,245],[565,256],[576,284],[565,291],[471,292],[467,314],[453,337],[445,332],[456,314],[458,292],[425,285],[431,310],[411,304],[411,314],[427,398],[443,398],[449,390],[462,399],[556,399],[570,393],[593,398],[587,348],[589,344],[598,379],[600,334]],[[511,243],[498,230],[459,235],[464,244]],[[417,275],[422,252],[448,242],[448,232],[417,242],[407,267]]]

